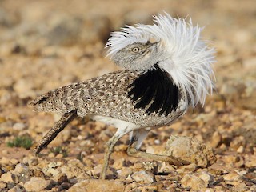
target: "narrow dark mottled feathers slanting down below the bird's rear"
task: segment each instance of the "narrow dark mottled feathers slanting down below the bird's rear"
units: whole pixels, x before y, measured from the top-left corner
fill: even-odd
[[[56,136],[69,124],[74,118],[77,117],[76,110],[70,111],[69,113],[63,114],[62,118],[56,122],[48,133],[42,138],[38,146],[34,149],[35,154],[39,154],[40,151],[48,146],[48,144],[56,138]]]

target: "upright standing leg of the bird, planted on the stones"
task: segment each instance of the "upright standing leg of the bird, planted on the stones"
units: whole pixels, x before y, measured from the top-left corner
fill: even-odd
[[[114,136],[112,138],[110,138],[110,140],[108,142],[106,142],[104,164],[103,164],[103,167],[102,167],[102,173],[100,175],[101,179],[106,178],[106,170],[109,166],[110,155],[113,152],[114,145],[118,142],[119,138],[120,137],[118,137],[117,135],[114,134]]]

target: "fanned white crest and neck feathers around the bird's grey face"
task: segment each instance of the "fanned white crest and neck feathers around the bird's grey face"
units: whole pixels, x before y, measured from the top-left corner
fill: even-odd
[[[147,42],[154,38],[166,57],[159,58],[158,65],[166,70],[174,83],[188,96],[186,104],[196,106],[205,102],[206,95],[214,88],[212,64],[214,49],[206,46],[200,34],[202,28],[193,26],[191,18],[171,18],[169,14],[154,16],[153,25],[126,26],[114,32],[106,47],[112,57],[122,48],[134,42]]]

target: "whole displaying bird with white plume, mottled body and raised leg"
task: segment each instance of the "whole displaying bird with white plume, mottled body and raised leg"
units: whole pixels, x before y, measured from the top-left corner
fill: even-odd
[[[125,134],[130,134],[130,156],[176,166],[189,163],[139,149],[150,130],[169,126],[190,107],[204,106],[206,96],[212,94],[214,48],[202,39],[202,30],[191,18],[174,18],[165,12],[154,15],[151,25],[138,23],[112,32],[106,56],[122,70],[62,86],[30,102],[35,111],[62,115],[35,153],[74,118],[88,117],[117,128],[106,142],[101,179],[106,179],[110,155]]]

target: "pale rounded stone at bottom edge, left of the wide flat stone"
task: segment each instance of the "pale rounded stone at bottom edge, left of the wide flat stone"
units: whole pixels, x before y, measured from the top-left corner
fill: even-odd
[[[29,182],[25,182],[24,188],[28,191],[41,191],[46,189],[50,185],[50,180],[45,180],[43,178],[33,177]]]

